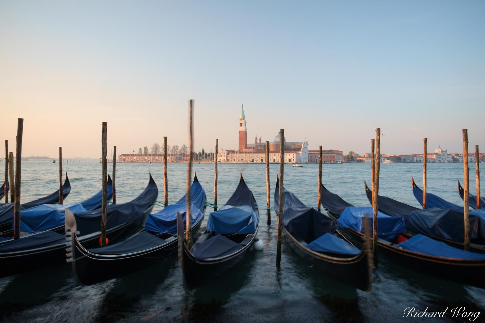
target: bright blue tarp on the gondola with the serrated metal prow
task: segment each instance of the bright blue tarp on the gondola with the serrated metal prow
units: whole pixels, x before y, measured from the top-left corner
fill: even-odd
[[[185,214],[187,213],[187,194],[175,204],[170,204],[162,211],[149,213],[146,217],[145,230],[153,232],[177,233],[177,211],[183,216],[185,226]],[[204,204],[207,201],[206,192],[197,181],[192,183],[192,214],[191,224],[196,224],[204,218]]]

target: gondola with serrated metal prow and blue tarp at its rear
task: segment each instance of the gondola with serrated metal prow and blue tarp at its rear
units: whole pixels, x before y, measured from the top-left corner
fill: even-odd
[[[194,177],[191,192],[191,226],[192,232],[197,232],[204,219],[207,202],[197,176]],[[66,211],[67,262],[72,262],[74,277],[81,285],[92,285],[138,271],[176,253],[177,212],[185,217],[186,210],[184,195],[162,211],[148,214],[144,231],[121,242],[90,249],[81,245],[76,235],[76,219],[72,212]]]

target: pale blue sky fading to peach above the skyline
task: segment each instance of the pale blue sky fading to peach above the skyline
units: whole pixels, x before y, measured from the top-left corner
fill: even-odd
[[[22,156],[248,142],[485,151],[485,1],[0,0],[0,140]]]

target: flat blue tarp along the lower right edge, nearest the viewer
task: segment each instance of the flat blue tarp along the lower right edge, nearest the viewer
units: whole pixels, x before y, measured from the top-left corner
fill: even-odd
[[[409,251],[438,257],[456,259],[485,259],[485,254],[458,249],[449,246],[444,242],[428,238],[422,234],[417,234],[414,237],[400,243],[398,246]]]

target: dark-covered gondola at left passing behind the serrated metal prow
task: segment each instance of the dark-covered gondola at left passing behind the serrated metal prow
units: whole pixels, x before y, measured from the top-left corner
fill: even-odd
[[[157,196],[158,187],[150,175],[148,185],[136,199],[128,203],[108,205],[107,238],[114,243],[140,231]],[[74,216],[79,242],[86,248],[97,246],[101,233],[101,209]],[[65,247],[65,235],[54,231],[42,231],[20,236],[17,240],[0,241],[0,277],[65,263]]]

